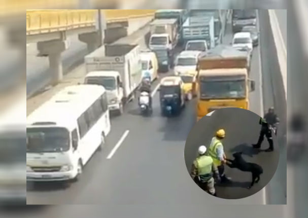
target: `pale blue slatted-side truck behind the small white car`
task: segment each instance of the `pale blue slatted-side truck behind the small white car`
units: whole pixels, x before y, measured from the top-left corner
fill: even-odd
[[[206,40],[208,48],[215,47],[214,17],[206,10],[191,10],[182,27],[182,37],[186,44],[191,40]]]

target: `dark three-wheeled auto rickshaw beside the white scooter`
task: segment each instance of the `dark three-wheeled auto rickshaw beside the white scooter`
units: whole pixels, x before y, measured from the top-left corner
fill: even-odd
[[[165,77],[159,87],[161,114],[170,116],[179,114],[185,106],[184,83],[181,77]]]

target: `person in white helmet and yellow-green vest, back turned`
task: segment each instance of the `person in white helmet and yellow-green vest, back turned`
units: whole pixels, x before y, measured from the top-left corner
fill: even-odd
[[[219,176],[217,167],[213,163],[213,159],[206,155],[207,148],[205,146],[200,146],[198,149],[199,156],[194,160],[190,176],[196,181],[201,189],[216,196],[215,191],[215,180],[214,176],[217,178]]]

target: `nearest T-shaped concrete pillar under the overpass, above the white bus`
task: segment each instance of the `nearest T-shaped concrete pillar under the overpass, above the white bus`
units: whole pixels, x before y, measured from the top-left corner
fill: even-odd
[[[67,41],[51,40],[38,42],[38,50],[40,53],[48,54],[49,67],[52,74],[51,85],[57,85],[63,79],[61,53],[67,49]]]

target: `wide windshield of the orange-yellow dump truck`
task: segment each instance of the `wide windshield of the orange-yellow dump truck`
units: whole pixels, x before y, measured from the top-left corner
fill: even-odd
[[[201,81],[200,98],[245,98],[245,80]]]

